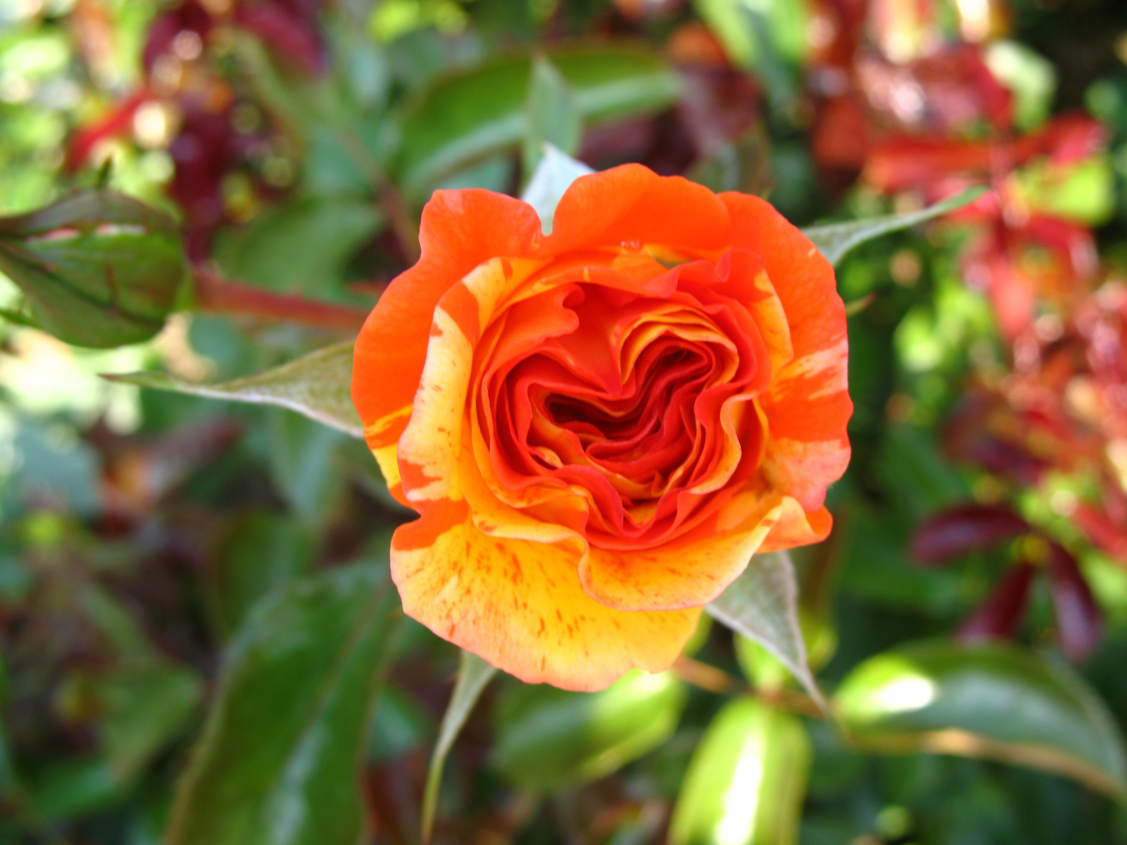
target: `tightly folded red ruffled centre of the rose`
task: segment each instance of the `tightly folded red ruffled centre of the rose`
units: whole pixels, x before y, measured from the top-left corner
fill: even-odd
[[[595,269],[487,328],[474,428],[503,500],[597,546],[658,545],[758,468],[770,357],[742,302],[747,279],[707,261],[644,284]]]

